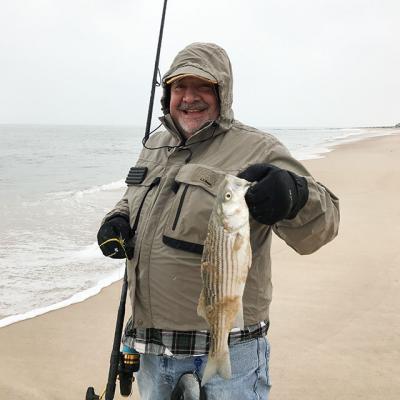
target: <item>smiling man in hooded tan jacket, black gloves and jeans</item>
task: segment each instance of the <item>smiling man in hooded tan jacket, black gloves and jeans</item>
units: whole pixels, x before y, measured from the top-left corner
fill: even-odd
[[[266,399],[272,231],[298,253],[312,253],[337,234],[338,199],[276,138],[234,120],[232,70],[222,48],[189,45],[162,83],[165,130],[145,144],[125,195],[98,233],[105,255],[128,258],[133,318],[124,343],[143,353],[141,399],[169,399],[182,373],[203,373],[209,336],[196,312],[200,260],[227,173],[257,182],[246,194],[253,263],[243,295],[245,330],[229,337],[232,378],[215,376],[205,391],[208,399]]]

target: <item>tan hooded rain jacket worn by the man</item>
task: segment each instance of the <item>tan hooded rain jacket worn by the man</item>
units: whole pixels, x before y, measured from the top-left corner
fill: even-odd
[[[197,315],[201,289],[200,259],[208,219],[219,183],[254,163],[272,163],[305,176],[309,199],[296,218],[273,227],[251,219],[253,263],[243,297],[245,325],[268,320],[272,296],[270,247],[272,230],[300,254],[309,254],[338,232],[339,203],[326,187],[272,135],[233,119],[232,73],[226,53],[212,44],[193,44],[178,54],[164,76],[190,65],[218,81],[221,115],[186,143],[168,113],[168,87],[162,99],[165,131],[150,137],[137,161],[147,167],[140,184],[125,195],[106,218],[122,213],[131,226],[138,210],[135,254],[128,261],[128,280],[135,326],[173,330],[207,329]],[[164,147],[163,147],[164,146]],[[170,147],[165,147],[170,146]]]

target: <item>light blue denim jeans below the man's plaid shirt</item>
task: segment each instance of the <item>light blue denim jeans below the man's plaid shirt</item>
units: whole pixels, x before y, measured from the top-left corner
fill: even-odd
[[[271,388],[266,337],[229,348],[232,378],[214,376],[206,385],[207,400],[268,400]],[[136,375],[141,400],[169,400],[179,377],[188,371],[203,374],[207,356],[175,358],[142,354]]]

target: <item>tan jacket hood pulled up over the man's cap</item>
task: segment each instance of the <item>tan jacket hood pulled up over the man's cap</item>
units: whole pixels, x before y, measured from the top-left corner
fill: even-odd
[[[214,43],[192,43],[181,50],[170,69],[162,78],[163,95],[161,107],[164,115],[169,114],[170,85],[172,77],[190,74],[217,82],[220,116],[217,123],[223,130],[233,122],[232,111],[232,67],[226,51]]]

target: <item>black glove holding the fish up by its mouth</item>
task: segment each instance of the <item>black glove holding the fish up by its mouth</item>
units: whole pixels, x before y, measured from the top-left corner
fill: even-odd
[[[257,181],[247,190],[245,199],[250,214],[261,224],[293,219],[307,202],[307,180],[274,165],[253,164],[238,177]]]

